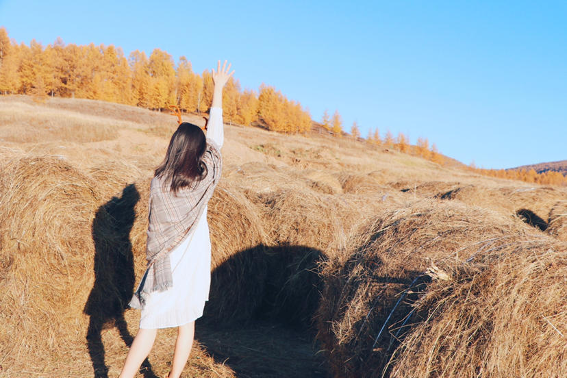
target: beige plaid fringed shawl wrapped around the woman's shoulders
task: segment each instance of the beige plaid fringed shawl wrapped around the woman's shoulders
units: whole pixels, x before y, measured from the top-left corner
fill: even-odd
[[[151,180],[149,197],[149,224],[146,242],[148,268],[129,305],[141,309],[144,294],[164,291],[173,285],[169,252],[188,237],[212,197],[220,179],[222,158],[218,146],[207,138],[207,149],[203,155],[207,175],[195,188],[182,188],[177,194],[161,177]]]

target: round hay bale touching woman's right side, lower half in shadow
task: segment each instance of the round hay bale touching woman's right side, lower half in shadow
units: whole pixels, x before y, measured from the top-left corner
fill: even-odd
[[[258,212],[242,188],[220,181],[208,205],[212,277],[203,321],[249,320],[262,304],[268,262]]]

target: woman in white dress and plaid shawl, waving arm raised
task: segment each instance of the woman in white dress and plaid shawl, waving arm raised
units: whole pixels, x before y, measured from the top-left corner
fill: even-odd
[[[209,296],[211,244],[207,202],[218,184],[223,145],[223,87],[234,73],[227,62],[216,72],[207,136],[181,123],[151,181],[147,239],[148,268],[130,306],[142,310],[120,378],[134,377],[158,328],[177,327],[168,378],[181,375],[193,343],[194,320]]]

